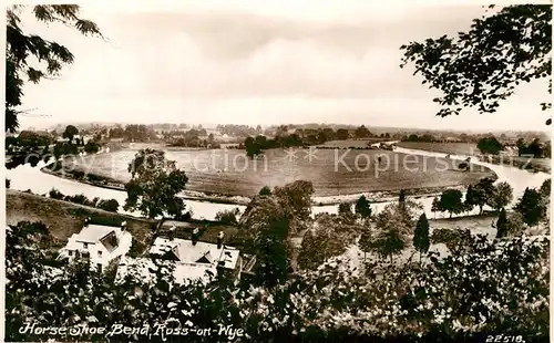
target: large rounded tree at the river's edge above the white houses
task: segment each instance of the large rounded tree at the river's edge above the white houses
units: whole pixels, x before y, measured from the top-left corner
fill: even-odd
[[[185,205],[177,194],[188,181],[185,172],[177,169],[165,153],[151,148],[141,149],[129,165],[131,180],[125,185],[125,210],[138,210],[148,218],[165,214],[178,219]]]

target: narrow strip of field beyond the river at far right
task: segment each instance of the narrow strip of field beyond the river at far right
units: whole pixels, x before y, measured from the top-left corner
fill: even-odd
[[[435,153],[444,153],[452,155],[466,155],[483,157],[474,143],[429,143],[429,142],[399,142],[398,146],[407,149],[420,149]],[[500,157],[494,157],[492,163],[497,164]],[[483,159],[486,160],[486,159]],[[551,170],[550,158],[533,158],[519,156],[502,156],[502,164],[513,165],[515,167],[529,166],[529,168],[537,168],[541,172]]]

